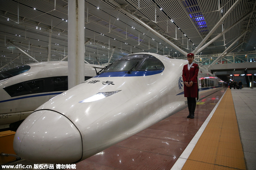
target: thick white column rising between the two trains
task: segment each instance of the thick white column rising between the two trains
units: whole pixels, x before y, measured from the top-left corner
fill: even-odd
[[[68,88],[84,81],[84,0],[68,2]]]

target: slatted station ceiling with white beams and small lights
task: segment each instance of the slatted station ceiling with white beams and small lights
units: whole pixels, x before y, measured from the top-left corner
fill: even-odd
[[[35,62],[28,55],[47,61],[49,41],[51,61],[68,55],[68,0],[0,3],[0,70]],[[137,52],[184,58],[195,49],[197,56],[255,56],[255,5],[255,0],[86,0],[85,61],[107,64],[112,54],[111,62]],[[207,45],[199,50],[201,44]]]

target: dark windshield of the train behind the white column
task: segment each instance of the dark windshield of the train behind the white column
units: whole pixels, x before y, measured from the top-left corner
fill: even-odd
[[[22,65],[13,69],[9,69],[7,71],[0,72],[0,80],[19,75],[21,73],[28,71],[29,69],[29,65]]]

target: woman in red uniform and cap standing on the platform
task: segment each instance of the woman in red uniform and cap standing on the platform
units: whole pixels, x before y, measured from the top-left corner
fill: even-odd
[[[197,75],[199,66],[193,62],[194,54],[187,54],[188,64],[183,66],[182,79],[184,82],[184,97],[187,97],[187,106],[189,115],[187,118],[193,119],[195,116],[196,98],[197,98]]]

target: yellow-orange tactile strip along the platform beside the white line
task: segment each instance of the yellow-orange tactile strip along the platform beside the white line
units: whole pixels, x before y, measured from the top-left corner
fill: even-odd
[[[182,170],[246,170],[231,90],[228,89]]]

